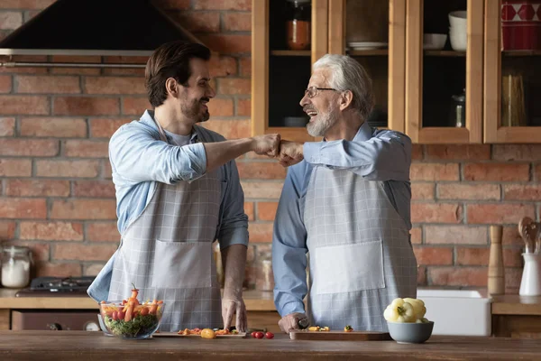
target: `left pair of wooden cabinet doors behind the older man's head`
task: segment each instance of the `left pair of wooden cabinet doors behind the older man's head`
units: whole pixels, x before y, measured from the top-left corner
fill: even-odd
[[[291,117],[306,124],[298,102],[312,64],[327,52],[348,53],[370,73],[376,106],[369,123],[403,132],[406,0],[311,0],[309,50],[288,49],[288,4],[252,1],[252,134],[318,140],[304,125],[285,125]],[[361,46],[346,48],[351,42]]]

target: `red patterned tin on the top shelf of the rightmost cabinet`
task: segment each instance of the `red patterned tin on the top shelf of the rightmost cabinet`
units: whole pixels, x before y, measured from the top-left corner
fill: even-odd
[[[501,1],[504,51],[541,50],[541,0]]]

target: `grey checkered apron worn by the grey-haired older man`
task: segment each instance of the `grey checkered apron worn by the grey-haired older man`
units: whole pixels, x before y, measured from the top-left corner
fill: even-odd
[[[312,325],[387,331],[383,311],[417,296],[417,260],[383,182],[316,166],[304,202]]]

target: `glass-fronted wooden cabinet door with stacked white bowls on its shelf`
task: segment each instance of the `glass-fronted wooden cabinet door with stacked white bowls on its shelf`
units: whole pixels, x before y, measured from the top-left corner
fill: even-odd
[[[414,143],[481,143],[483,5],[407,1],[406,133]]]

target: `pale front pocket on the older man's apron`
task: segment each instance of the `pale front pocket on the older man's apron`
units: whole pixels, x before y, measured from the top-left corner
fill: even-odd
[[[385,288],[381,241],[316,247],[313,262],[316,294]]]

